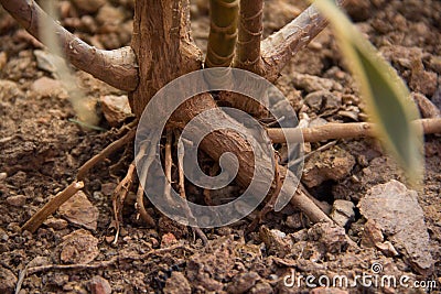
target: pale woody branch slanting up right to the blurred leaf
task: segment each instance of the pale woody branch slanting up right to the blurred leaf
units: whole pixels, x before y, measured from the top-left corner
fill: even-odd
[[[347,1],[335,2],[344,7]],[[327,20],[312,4],[280,31],[265,39],[261,44],[263,76],[275,81],[292,56],[305,47],[326,25]]]

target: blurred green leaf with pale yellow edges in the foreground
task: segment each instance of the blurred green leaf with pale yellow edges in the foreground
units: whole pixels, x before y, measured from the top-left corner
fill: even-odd
[[[419,183],[423,175],[422,131],[412,123],[419,115],[405,83],[334,1],[315,0],[314,6],[335,30],[345,62],[377,126],[378,138],[401,164],[410,182]]]

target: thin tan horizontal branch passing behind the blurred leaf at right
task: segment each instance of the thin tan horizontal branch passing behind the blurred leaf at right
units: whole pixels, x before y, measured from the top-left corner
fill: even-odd
[[[419,119],[413,123],[421,126],[424,134],[441,133],[441,119]],[[284,132],[283,132],[284,131]],[[304,142],[320,142],[324,140],[348,139],[359,137],[375,137],[375,126],[369,122],[327,123],[315,128],[301,129]],[[268,137],[272,143],[286,143],[284,133],[297,133],[297,129],[268,129]]]

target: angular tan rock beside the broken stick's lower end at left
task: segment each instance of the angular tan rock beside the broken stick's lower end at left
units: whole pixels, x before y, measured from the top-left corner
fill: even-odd
[[[68,221],[86,229],[96,230],[97,228],[98,208],[89,202],[82,190],[78,190],[71,199],[60,206],[58,214]]]

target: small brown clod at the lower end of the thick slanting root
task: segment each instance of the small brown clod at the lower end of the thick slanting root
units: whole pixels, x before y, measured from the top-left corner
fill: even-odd
[[[348,243],[344,228],[330,222],[315,224],[308,230],[310,240],[319,241],[326,252],[340,253],[346,250]]]

